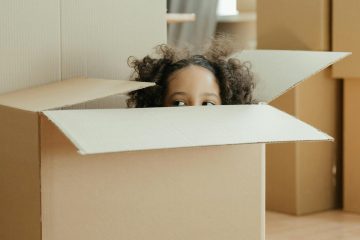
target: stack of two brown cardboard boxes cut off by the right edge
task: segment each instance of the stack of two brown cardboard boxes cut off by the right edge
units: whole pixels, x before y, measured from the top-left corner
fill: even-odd
[[[344,79],[344,209],[360,213],[360,1],[333,0],[333,50],[352,55],[333,66]]]

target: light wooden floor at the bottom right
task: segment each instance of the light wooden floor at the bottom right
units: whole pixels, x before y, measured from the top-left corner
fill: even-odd
[[[360,215],[329,211],[307,216],[266,213],[266,240],[360,240]]]

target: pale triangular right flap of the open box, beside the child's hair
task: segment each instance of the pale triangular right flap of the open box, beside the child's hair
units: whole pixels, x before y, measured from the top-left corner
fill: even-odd
[[[254,99],[268,103],[348,55],[347,52],[245,50],[233,57],[250,62],[256,81]]]

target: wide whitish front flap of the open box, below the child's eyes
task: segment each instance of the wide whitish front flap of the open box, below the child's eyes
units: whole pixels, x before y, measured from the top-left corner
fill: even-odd
[[[268,105],[45,111],[81,154],[331,140]]]

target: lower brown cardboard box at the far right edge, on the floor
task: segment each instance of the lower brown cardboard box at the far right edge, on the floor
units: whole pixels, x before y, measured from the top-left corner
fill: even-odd
[[[344,210],[360,213],[359,79],[344,80]]]

